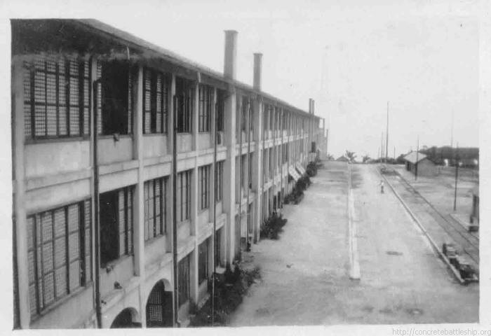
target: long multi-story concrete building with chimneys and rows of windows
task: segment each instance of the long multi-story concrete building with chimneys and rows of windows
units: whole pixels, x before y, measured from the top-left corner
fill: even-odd
[[[325,148],[313,102],[262,92],[260,54],[238,82],[236,31],[222,74],[95,20],[11,23],[16,327],[186,325]]]

